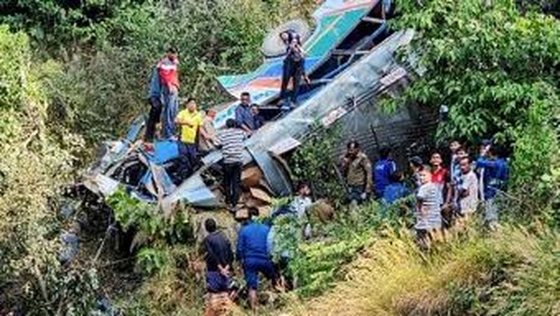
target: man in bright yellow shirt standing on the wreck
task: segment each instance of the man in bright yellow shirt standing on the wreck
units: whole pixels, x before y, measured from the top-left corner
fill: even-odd
[[[189,98],[183,104],[185,109],[179,112],[175,124],[181,129],[179,154],[183,157],[183,161],[188,164],[186,169],[192,172],[197,165],[197,134],[200,125],[202,125],[202,114],[197,110],[195,99]]]

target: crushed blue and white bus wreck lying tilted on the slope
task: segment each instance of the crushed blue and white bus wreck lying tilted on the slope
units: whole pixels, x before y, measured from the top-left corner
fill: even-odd
[[[283,56],[274,43],[270,44],[271,38],[277,38],[293,22],[276,28],[265,39],[265,59],[258,69],[218,78],[235,98],[250,92],[267,120],[244,143],[241,178],[246,192],[255,199],[290,194],[290,171],[282,157],[306,141],[313,129],[328,128],[356,108],[374,106],[376,96],[409,78],[413,55],[399,63],[395,54],[409,45],[414,32],[388,29],[390,6],[391,1],[377,0],[328,0],[319,6],[314,13],[316,27],[303,43],[305,71],[311,83],[300,89],[296,96],[300,105],[293,110],[276,106]],[[216,128],[235,115],[237,105],[235,101],[218,110]],[[177,144],[155,141],[147,150],[139,139],[143,127],[144,117],[139,117],[125,138],[106,142],[103,154],[87,170],[81,184],[99,196],[109,196],[120,185],[125,186],[131,196],[158,203],[165,215],[171,215],[179,203],[220,207],[221,152],[202,157],[200,168],[177,180]]]

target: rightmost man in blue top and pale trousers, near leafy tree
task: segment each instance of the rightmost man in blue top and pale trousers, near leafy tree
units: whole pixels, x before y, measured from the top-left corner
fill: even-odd
[[[481,150],[476,166],[484,170],[482,173],[484,220],[493,228],[498,222],[496,195],[505,190],[509,166],[507,166],[507,160],[501,155],[500,148],[496,148],[494,145]]]

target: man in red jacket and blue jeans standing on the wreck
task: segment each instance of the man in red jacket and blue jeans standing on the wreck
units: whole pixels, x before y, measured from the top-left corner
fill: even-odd
[[[162,138],[175,136],[175,117],[179,107],[179,76],[177,68],[179,59],[175,48],[169,48],[167,54],[158,62],[158,74],[164,104]]]

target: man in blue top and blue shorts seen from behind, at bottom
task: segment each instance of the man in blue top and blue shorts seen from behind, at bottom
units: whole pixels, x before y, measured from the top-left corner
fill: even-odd
[[[243,266],[243,274],[249,292],[249,305],[253,311],[257,307],[258,273],[272,282],[278,280],[278,273],[270,259],[267,237],[270,228],[253,221],[258,216],[257,208],[248,208],[249,220],[239,229],[237,236],[237,259]]]

